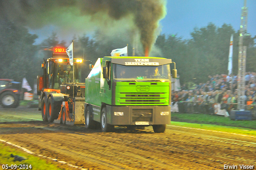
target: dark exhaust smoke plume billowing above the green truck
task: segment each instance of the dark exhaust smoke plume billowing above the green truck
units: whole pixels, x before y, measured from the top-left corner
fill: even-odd
[[[150,51],[158,22],[166,15],[165,5],[166,0],[0,0],[0,17],[31,29],[56,25],[90,31],[131,18],[129,27],[138,29],[144,51]]]

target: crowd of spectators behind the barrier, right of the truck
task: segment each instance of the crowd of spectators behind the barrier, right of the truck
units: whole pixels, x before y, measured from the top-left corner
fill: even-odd
[[[200,83],[188,89],[186,84],[180,91],[172,92],[172,105],[178,102],[183,112],[214,114],[214,105],[221,109],[236,110],[238,100],[238,77],[226,74],[208,76],[206,83]],[[256,103],[256,73],[247,72],[245,76],[245,104]]]

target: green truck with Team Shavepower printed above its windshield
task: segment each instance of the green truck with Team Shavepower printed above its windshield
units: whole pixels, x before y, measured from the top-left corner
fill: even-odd
[[[86,128],[100,123],[103,132],[114,126],[153,126],[164,132],[170,123],[175,62],[159,57],[98,58],[85,80]]]

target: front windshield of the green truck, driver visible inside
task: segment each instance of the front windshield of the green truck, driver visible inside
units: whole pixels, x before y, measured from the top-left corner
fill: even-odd
[[[161,81],[170,82],[170,64],[161,66],[124,66],[113,64],[114,81]]]

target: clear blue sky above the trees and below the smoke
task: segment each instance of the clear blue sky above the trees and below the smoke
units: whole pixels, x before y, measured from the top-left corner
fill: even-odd
[[[244,0],[167,0],[167,14],[160,21],[160,34],[177,34],[182,39],[191,38],[194,28],[202,28],[212,22],[217,27],[224,23],[231,24],[235,31],[240,29],[241,8]],[[247,0],[248,24],[247,32],[256,36],[256,0]],[[39,30],[30,30],[39,38],[36,44],[48,38],[52,31],[57,32],[54,26],[45,26]],[[88,34],[87,34],[88,35]],[[74,34],[66,36],[66,42],[72,40]],[[60,38],[60,40],[63,40]]]

